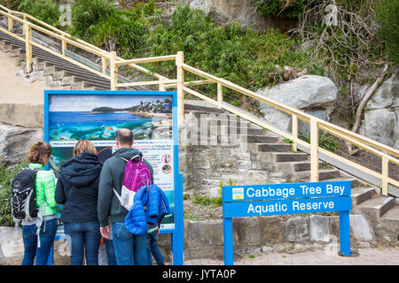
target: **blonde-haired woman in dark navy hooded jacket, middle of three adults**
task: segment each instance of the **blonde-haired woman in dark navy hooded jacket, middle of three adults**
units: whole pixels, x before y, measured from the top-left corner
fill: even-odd
[[[92,142],[76,142],[74,157],[62,165],[57,182],[56,201],[64,204],[60,219],[71,240],[71,265],[82,265],[84,256],[87,265],[98,265],[101,234],[97,202],[102,164],[96,154]]]

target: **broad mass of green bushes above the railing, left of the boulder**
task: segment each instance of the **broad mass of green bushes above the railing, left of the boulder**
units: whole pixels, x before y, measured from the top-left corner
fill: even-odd
[[[176,8],[171,23],[160,22],[146,36],[143,56],[153,57],[184,51],[184,62],[202,71],[255,90],[282,81],[275,65],[291,65],[308,73],[324,74],[324,62],[309,51],[299,50],[300,42],[269,29],[264,33],[232,23],[219,27],[199,9]],[[157,69],[158,68],[158,69]],[[175,72],[174,65],[161,65],[154,71]],[[230,97],[229,97],[230,96]],[[233,101],[239,96],[228,92]]]

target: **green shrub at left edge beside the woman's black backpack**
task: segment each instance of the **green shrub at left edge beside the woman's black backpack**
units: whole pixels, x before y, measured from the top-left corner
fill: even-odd
[[[24,167],[27,167],[27,162],[18,164],[13,169],[7,169],[4,164],[0,164],[0,226],[12,226],[11,181]]]

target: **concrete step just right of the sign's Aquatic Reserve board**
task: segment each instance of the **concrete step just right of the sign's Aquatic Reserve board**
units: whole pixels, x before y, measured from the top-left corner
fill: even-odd
[[[379,220],[394,204],[393,197],[379,196],[356,205],[352,211],[353,213],[362,213],[371,220]]]

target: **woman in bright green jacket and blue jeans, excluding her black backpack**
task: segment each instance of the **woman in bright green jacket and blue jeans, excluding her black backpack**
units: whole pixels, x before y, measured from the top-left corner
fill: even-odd
[[[36,169],[36,206],[42,208],[43,224],[37,237],[36,221],[22,221],[24,259],[22,265],[45,265],[57,233],[55,201],[55,177],[44,166],[51,157],[51,146],[47,142],[36,142],[29,148],[29,168]]]

